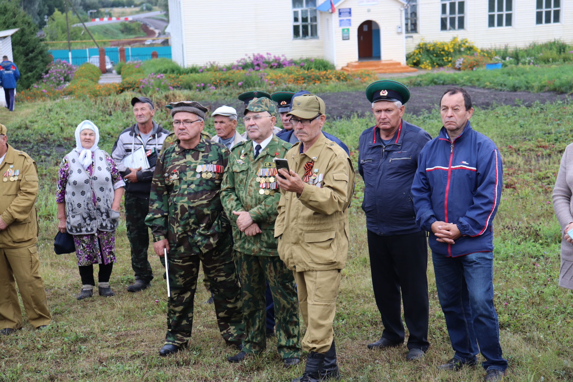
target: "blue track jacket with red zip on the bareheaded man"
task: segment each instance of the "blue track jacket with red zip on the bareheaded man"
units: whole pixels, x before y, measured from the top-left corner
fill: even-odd
[[[452,257],[493,250],[501,178],[501,157],[492,140],[469,121],[453,141],[442,127],[419,155],[411,190],[416,223],[430,232],[431,250]],[[436,241],[430,228],[435,221],[456,223],[462,236],[451,245]]]

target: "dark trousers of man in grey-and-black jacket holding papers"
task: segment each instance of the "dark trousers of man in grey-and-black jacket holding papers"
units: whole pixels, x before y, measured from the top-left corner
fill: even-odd
[[[147,261],[147,247],[149,247],[149,229],[145,217],[149,212],[149,199],[138,198],[130,192],[125,193],[125,229],[129,246],[131,246],[131,267],[135,279],[151,281],[153,273]]]

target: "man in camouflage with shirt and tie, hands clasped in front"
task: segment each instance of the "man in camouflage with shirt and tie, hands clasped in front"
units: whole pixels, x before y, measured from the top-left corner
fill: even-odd
[[[278,258],[274,220],[280,192],[274,157],[284,157],[291,144],[273,134],[276,107],[266,97],[253,99],[245,109],[248,140],[233,147],[223,176],[221,199],[233,225],[234,258],[242,287],[245,340],[241,352],[228,357],[239,362],[266,347],[265,283],[275,306],[277,351],[285,367],[299,363],[300,326],[295,279]]]

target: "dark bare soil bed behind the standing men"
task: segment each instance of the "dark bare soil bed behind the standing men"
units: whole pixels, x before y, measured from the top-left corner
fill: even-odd
[[[410,101],[406,104],[406,111],[418,115],[423,111],[430,111],[436,108],[442,93],[451,86],[433,85],[418,86],[410,88]],[[366,86],[364,86],[366,90]],[[465,88],[472,96],[474,107],[491,108],[497,105],[531,105],[535,101],[540,103],[555,102],[556,100],[567,100],[566,94],[558,93],[529,93],[529,92],[500,92],[498,90],[482,88]],[[371,105],[368,103],[364,92],[336,92],[318,93],[326,104],[326,112],[330,118],[343,118],[353,115],[364,115],[371,112]],[[519,101],[518,101],[519,100]],[[242,115],[245,109],[244,104],[237,100],[205,101],[202,103],[211,111],[221,105],[232,106]]]

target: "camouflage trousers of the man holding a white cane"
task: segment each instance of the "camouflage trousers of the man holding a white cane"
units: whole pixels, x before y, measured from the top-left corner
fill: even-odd
[[[167,306],[165,344],[182,346],[191,338],[200,263],[213,292],[217,325],[223,340],[227,344],[241,344],[245,336],[241,288],[230,249],[169,258],[171,297]]]

